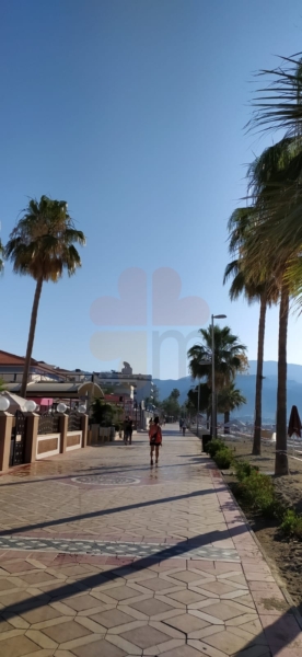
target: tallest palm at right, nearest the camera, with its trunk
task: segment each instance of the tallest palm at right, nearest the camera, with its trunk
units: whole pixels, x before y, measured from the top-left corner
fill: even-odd
[[[255,262],[265,260],[274,285],[280,289],[279,342],[278,342],[278,390],[276,423],[276,474],[288,474],[287,459],[287,328],[289,316],[289,297],[292,285],[288,275],[290,267],[299,258],[302,242],[294,247],[284,246],[279,240],[275,249],[270,249],[269,227],[271,218],[278,215],[278,224],[287,223],[287,209],[283,197],[288,187],[293,191],[297,176],[297,161],[302,157],[302,142],[288,137],[266,149],[249,168],[249,181],[255,205],[258,208],[258,221],[252,230],[252,239],[247,245],[247,260],[253,270]],[[280,203],[279,203],[280,201]],[[288,207],[290,209],[288,200]],[[295,198],[291,205],[295,203]],[[280,207],[282,208],[280,215]],[[247,242],[248,242],[247,239]],[[257,256],[255,246],[260,244]],[[293,250],[292,250],[293,249]],[[253,264],[254,263],[254,264]]]

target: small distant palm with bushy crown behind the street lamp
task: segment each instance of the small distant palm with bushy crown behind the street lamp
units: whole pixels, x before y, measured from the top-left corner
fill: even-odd
[[[236,335],[231,333],[229,326],[222,328],[214,324],[214,383],[219,391],[223,385],[231,383],[237,371],[242,368],[240,356],[245,354],[246,346],[239,342]],[[188,350],[189,370],[194,379],[207,379],[212,387],[212,328],[200,328],[199,333],[204,344],[196,344]],[[208,361],[208,362],[207,362]],[[208,365],[209,364],[209,365]]]

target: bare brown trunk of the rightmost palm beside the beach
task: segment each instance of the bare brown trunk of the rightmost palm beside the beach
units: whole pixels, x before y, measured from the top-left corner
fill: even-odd
[[[288,474],[287,443],[287,337],[289,318],[289,292],[283,283],[281,287],[278,345],[278,390],[276,425],[275,474]]]

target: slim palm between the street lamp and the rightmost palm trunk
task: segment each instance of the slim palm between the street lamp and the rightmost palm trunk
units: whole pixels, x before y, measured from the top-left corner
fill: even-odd
[[[268,279],[263,266],[258,268],[257,275],[248,276],[248,263],[245,256],[245,242],[248,232],[251,232],[255,220],[255,208],[252,206],[237,208],[230,217],[228,229],[230,232],[230,253],[237,253],[239,257],[229,263],[225,267],[223,285],[233,276],[230,287],[230,298],[236,300],[241,295],[245,297],[249,304],[259,301],[259,323],[258,323],[258,349],[257,349],[257,373],[255,390],[255,418],[254,418],[254,440],[253,454],[262,453],[262,397],[263,397],[263,367],[264,367],[264,341],[265,322],[267,306],[276,303],[279,297],[279,289],[274,281]],[[267,280],[265,279],[267,277]]]

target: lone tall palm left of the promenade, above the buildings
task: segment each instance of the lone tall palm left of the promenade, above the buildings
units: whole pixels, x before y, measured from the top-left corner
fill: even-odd
[[[32,276],[36,281],[20,391],[22,396],[26,396],[43,284],[49,280],[57,283],[63,270],[69,276],[76,273],[81,266],[81,258],[74,242],[84,245],[85,237],[82,231],[76,230],[65,200],[42,196],[39,201],[31,199],[23,212],[10,234],[5,255],[12,261],[16,274]]]

